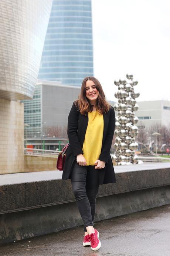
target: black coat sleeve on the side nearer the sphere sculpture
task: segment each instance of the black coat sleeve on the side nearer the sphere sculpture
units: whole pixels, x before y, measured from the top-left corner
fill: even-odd
[[[116,122],[115,109],[113,107],[111,107],[110,117],[109,117],[109,124],[108,124],[108,131],[107,131],[107,135],[106,135],[106,138],[105,138],[105,142],[103,144],[102,152],[99,156],[99,160],[105,161],[106,163],[108,163],[110,148],[111,148],[111,145],[112,145],[113,135],[114,135],[114,132],[115,132],[115,122]]]

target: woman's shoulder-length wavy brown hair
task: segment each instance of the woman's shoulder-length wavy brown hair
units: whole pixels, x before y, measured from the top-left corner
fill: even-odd
[[[99,91],[99,96],[97,98],[96,107],[99,113],[107,113],[110,109],[110,104],[106,101],[105,93],[103,92],[101,83],[93,76],[87,76],[84,78],[81,86],[81,92],[78,99],[74,102],[76,107],[79,108],[82,115],[86,115],[87,112],[92,112],[93,107],[90,100],[86,97],[86,81],[91,80],[95,83],[96,89]]]

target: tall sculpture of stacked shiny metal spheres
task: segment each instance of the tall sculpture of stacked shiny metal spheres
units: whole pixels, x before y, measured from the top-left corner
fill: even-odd
[[[118,92],[115,97],[118,99],[118,104],[114,105],[118,116],[116,116],[115,124],[115,144],[116,149],[113,158],[117,165],[137,164],[139,163],[138,156],[135,155],[135,150],[138,148],[138,143],[135,142],[135,137],[138,134],[138,128],[135,124],[138,122],[134,111],[137,111],[139,106],[136,104],[136,98],[140,93],[135,92],[133,86],[137,85],[137,81],[133,81],[133,75],[126,75],[126,80],[115,81],[118,86]]]

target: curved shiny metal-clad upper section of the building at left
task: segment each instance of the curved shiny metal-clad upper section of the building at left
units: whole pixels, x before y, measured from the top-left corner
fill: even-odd
[[[0,1],[0,98],[33,98],[52,0]]]

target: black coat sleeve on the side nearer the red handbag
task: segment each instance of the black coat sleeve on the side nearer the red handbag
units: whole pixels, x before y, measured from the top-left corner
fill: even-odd
[[[72,148],[74,156],[83,154],[80,142],[78,140],[78,134],[77,134],[78,119],[79,119],[78,109],[76,108],[73,102],[72,108],[68,115],[67,135],[68,135],[69,143]]]

